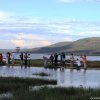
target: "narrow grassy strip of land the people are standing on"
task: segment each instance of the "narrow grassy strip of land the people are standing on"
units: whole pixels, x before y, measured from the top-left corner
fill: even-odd
[[[13,61],[14,64],[10,63],[9,65],[6,64],[6,61],[3,61],[2,65],[0,66],[21,66],[21,62],[20,60],[14,60]],[[23,67],[25,65],[23,64]],[[28,67],[28,66],[27,66]],[[44,62],[43,59],[35,59],[35,60],[31,60],[30,62],[30,67],[44,67]],[[66,66],[51,66],[50,62],[48,62],[46,68],[67,68],[67,69],[71,69],[70,67],[70,62],[68,60],[66,60]],[[75,68],[75,66],[73,66],[73,69]],[[80,68],[83,69],[83,66],[81,66]],[[87,62],[87,69],[99,69],[100,68],[100,61],[88,61]]]

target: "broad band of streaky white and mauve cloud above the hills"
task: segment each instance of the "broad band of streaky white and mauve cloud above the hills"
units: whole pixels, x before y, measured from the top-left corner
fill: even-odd
[[[100,36],[100,22],[77,20],[46,21],[29,16],[1,13],[0,47],[34,48],[62,41]],[[5,19],[5,20],[4,20]]]

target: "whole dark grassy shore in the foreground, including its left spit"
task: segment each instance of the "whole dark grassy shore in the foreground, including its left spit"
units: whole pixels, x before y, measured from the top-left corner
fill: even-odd
[[[2,100],[91,100],[100,97],[100,89],[74,87],[43,87],[35,91],[29,89],[30,86],[44,84],[56,84],[56,81],[0,77],[0,94],[11,93],[13,96],[3,97]]]

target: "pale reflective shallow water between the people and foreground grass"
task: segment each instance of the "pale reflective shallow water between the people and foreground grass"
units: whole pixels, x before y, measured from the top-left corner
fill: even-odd
[[[50,76],[37,76],[33,73],[47,73]],[[0,67],[0,76],[2,77],[24,77],[24,78],[42,78],[57,80],[57,85],[61,87],[90,87],[100,88],[100,70],[76,69],[46,69],[44,67],[21,68],[20,66],[2,66]]]

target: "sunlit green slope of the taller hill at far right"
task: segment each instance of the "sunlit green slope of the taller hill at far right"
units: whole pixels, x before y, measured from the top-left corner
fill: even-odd
[[[100,50],[100,37],[77,40],[67,50]]]

